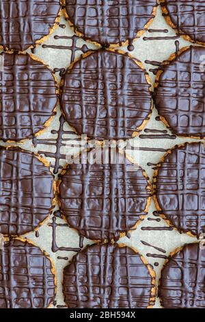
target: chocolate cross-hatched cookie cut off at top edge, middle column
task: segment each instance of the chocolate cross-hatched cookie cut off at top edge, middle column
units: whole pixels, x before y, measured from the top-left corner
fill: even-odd
[[[74,29],[104,46],[133,40],[154,17],[156,0],[66,0]]]

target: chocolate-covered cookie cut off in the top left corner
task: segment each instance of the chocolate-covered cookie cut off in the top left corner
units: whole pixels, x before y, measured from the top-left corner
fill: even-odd
[[[49,34],[59,9],[59,0],[1,0],[0,45],[28,49]]]

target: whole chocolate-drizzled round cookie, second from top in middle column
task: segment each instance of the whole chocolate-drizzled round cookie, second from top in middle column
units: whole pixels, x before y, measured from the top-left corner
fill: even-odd
[[[64,75],[61,107],[78,134],[131,138],[152,110],[148,75],[140,62],[119,51],[86,53]]]

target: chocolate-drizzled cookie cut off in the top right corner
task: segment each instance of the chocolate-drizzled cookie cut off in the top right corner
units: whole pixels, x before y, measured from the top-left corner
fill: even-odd
[[[205,43],[205,4],[203,0],[161,0],[169,25],[186,40]]]

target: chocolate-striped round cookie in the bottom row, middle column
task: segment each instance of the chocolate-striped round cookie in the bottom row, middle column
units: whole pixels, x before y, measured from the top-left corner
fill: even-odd
[[[63,293],[68,308],[150,308],[155,274],[129,247],[92,245],[64,269]]]

